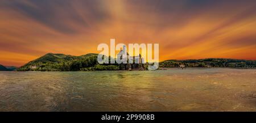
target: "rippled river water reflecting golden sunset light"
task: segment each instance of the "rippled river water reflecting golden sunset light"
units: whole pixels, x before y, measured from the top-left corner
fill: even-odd
[[[0,111],[256,111],[256,70],[0,72]]]

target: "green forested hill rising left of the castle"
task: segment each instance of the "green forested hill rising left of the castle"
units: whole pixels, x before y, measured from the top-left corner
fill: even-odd
[[[17,71],[79,71],[79,70],[118,70],[115,65],[98,65],[98,54],[82,56],[48,53],[28,62]]]

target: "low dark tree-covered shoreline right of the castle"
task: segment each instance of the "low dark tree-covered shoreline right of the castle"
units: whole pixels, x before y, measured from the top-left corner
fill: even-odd
[[[226,58],[207,58],[201,60],[167,60],[159,63],[159,67],[256,67],[255,60],[235,60]]]

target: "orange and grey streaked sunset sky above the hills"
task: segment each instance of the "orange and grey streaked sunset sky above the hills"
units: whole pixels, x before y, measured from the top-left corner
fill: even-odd
[[[160,61],[256,60],[256,1],[1,0],[0,64],[46,53],[100,53],[97,45],[159,43]]]

